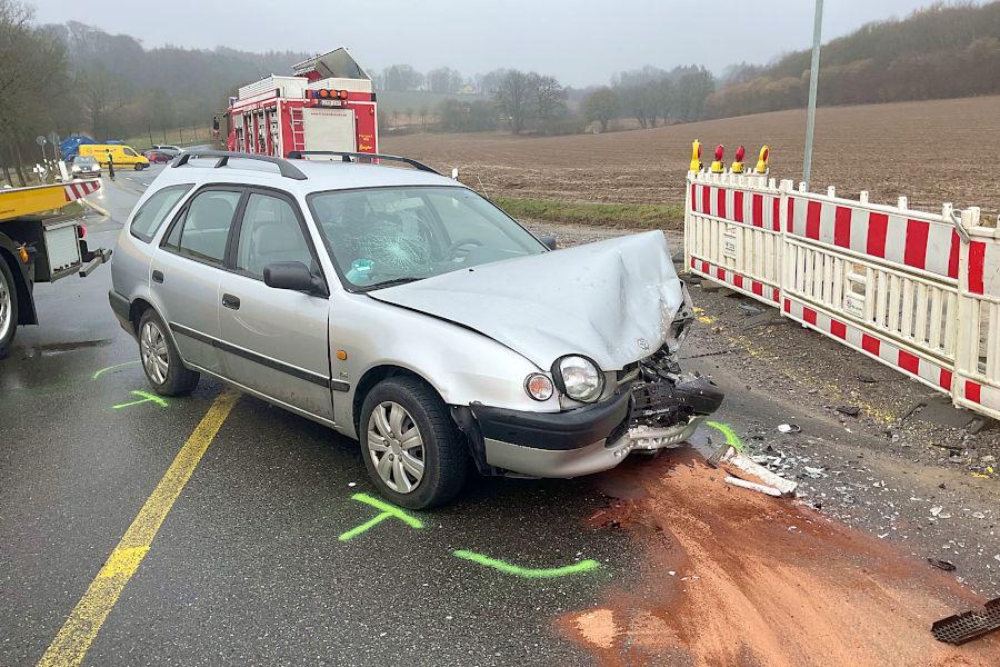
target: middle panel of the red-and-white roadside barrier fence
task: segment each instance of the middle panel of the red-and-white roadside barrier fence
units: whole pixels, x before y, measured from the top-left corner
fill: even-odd
[[[944,216],[788,193],[784,313],[951,391],[961,240]],[[822,317],[820,317],[822,315]]]

